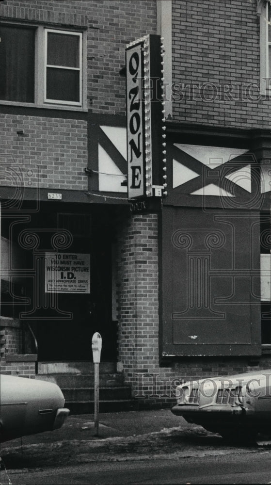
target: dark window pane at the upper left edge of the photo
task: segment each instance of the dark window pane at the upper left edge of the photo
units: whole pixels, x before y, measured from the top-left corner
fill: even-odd
[[[34,29],[1,26],[1,99],[34,102],[34,37]]]

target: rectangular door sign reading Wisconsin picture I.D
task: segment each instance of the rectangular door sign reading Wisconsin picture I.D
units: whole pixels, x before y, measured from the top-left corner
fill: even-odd
[[[90,255],[45,254],[46,293],[90,293]]]

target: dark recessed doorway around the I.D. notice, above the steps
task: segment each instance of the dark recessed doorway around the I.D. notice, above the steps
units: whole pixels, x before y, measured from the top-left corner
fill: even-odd
[[[28,302],[20,307],[20,319],[29,322],[38,343],[39,361],[92,360],[92,336],[102,336],[103,361],[116,360],[116,322],[112,320],[112,242],[115,210],[111,206],[41,203],[26,222],[6,231],[17,252],[17,267],[25,269],[23,293]],[[9,221],[5,224],[9,226]],[[12,226],[12,227],[11,227]],[[88,293],[45,292],[44,258],[52,250],[54,234],[71,234],[68,247],[58,253],[90,256],[90,291]],[[37,237],[35,247],[23,246],[22,234]],[[26,238],[25,238],[26,239]]]

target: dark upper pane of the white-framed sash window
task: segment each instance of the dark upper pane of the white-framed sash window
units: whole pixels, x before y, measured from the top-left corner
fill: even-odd
[[[48,32],[47,64],[79,67],[79,36]]]

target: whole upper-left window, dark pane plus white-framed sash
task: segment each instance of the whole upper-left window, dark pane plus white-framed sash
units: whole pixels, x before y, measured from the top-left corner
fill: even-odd
[[[83,105],[82,32],[2,24],[0,99]]]

